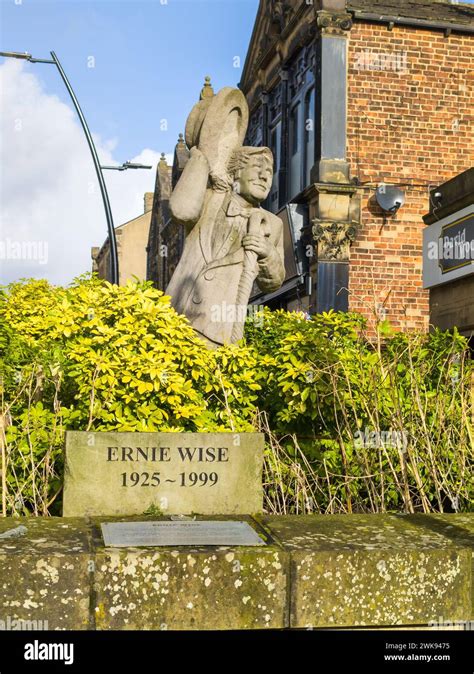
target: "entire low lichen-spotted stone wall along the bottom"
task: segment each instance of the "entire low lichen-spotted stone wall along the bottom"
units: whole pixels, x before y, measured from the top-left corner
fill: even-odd
[[[102,521],[0,519],[0,626],[391,627],[473,617],[474,515],[246,519],[267,546],[105,548]]]

